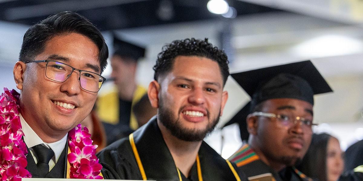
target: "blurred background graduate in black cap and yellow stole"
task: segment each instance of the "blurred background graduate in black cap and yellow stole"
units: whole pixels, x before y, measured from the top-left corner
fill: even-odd
[[[136,83],[138,60],[144,57],[145,49],[122,41],[115,34],[113,49],[111,79],[115,86],[100,93],[97,101],[97,114],[107,132],[107,145],[128,136],[140,126],[132,106],[146,94],[146,89]]]

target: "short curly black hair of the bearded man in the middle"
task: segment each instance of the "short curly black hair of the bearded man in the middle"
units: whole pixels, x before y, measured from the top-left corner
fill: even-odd
[[[228,58],[224,50],[213,47],[208,42],[208,38],[204,40],[187,38],[183,40],[175,40],[170,44],[163,46],[162,52],[158,54],[158,59],[154,66],[154,79],[158,81],[160,75],[164,75],[172,70],[174,60],[177,56],[200,56],[216,61],[221,70],[223,77],[223,86],[229,76]]]

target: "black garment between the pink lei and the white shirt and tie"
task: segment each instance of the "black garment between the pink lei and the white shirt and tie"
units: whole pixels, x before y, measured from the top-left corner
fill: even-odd
[[[37,165],[33,159],[32,153],[28,146],[26,146],[28,150],[28,154],[26,155],[26,160],[28,161],[28,165],[26,168],[31,174],[33,178],[38,178],[37,173]],[[49,171],[49,173],[45,176],[45,178],[66,178],[67,177],[67,154],[68,151],[68,141],[66,142],[66,146],[63,149],[61,156],[59,157],[56,165]]]

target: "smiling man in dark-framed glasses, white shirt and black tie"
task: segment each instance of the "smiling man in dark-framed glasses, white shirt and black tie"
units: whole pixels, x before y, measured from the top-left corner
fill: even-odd
[[[72,152],[69,131],[90,113],[105,81],[100,74],[107,57],[101,32],[77,13],[53,14],[26,31],[13,73],[21,90],[16,101],[24,132],[21,141],[28,151],[23,152],[23,166],[33,178],[74,177],[67,163]],[[5,173],[0,174],[4,178]],[[17,175],[28,176],[20,171]]]

